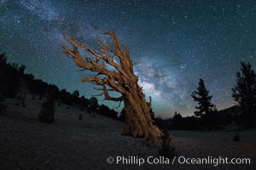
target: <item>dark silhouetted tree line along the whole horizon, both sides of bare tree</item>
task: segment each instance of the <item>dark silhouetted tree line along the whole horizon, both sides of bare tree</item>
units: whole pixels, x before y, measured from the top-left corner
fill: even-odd
[[[33,95],[33,99],[43,99],[49,92],[55,97],[55,100],[61,105],[77,105],[82,111],[94,111],[102,116],[112,117],[125,122],[125,112],[118,112],[109,109],[107,105],[99,105],[95,97],[86,99],[80,96],[79,91],[73,93],[66,89],[59,89],[53,84],[48,84],[40,79],[36,79],[32,74],[25,73],[25,65],[9,64],[6,54],[0,54],[0,95],[1,111],[3,112],[7,105],[4,104],[6,97],[19,98],[20,87]],[[26,83],[24,86],[23,82]],[[212,95],[207,90],[202,79],[198,82],[198,88],[191,94],[192,99],[198,103],[195,106],[195,116],[183,117],[180,113],[175,113],[172,120],[166,120],[168,128],[184,130],[213,130],[221,129],[226,125],[235,122],[243,127],[255,127],[256,115],[256,74],[249,63],[241,62],[241,71],[236,73],[236,83],[232,88],[232,97],[237,106],[224,111],[217,111],[212,104]],[[150,109],[154,124],[163,128],[163,121],[154,117],[152,108]]]

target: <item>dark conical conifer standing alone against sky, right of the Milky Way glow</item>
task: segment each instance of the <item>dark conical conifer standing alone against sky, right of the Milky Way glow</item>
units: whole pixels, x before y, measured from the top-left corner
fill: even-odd
[[[205,86],[205,82],[200,79],[198,82],[198,88],[191,94],[194,101],[198,102],[198,106],[195,106],[195,116],[207,116],[212,113],[213,106],[211,103],[212,96],[209,95],[209,91]]]

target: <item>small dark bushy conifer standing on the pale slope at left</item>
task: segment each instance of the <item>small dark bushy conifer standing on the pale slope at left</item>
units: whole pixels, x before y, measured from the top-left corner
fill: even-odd
[[[41,122],[55,122],[55,97],[48,94],[46,101],[42,104],[41,112],[38,115]]]

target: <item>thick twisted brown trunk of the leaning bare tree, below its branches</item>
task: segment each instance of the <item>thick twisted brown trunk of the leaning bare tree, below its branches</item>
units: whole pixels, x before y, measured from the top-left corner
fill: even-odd
[[[125,103],[125,120],[127,122],[124,134],[134,137],[144,137],[147,144],[155,144],[160,138],[160,129],[153,124],[150,113],[151,97],[148,103],[143,94],[142,88],[136,83],[131,86],[123,95]]]

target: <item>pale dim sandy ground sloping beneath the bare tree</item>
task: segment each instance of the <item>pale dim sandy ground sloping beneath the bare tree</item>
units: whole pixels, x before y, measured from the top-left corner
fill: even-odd
[[[251,165],[181,165],[176,157],[174,165],[123,165],[108,156],[148,156],[159,158],[157,148],[149,148],[142,139],[122,136],[125,127],[108,117],[91,117],[78,108],[55,105],[53,124],[38,122],[38,99],[26,99],[26,108],[13,105],[19,100],[8,99],[7,113],[0,115],[0,170],[87,170],[87,169],[256,169],[256,131],[240,132],[241,141],[233,142],[234,132],[173,131],[173,146],[177,156],[248,157]],[[83,120],[79,121],[79,114]]]

